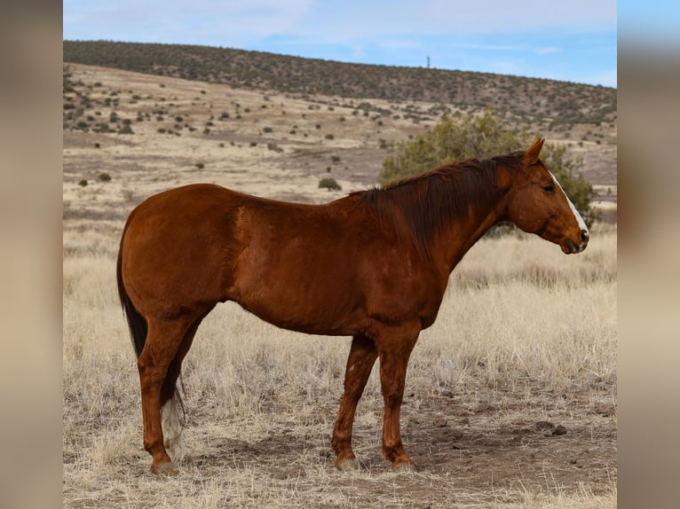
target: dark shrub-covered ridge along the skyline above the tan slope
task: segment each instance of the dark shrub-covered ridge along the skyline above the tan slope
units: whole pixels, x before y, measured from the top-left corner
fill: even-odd
[[[207,46],[64,41],[64,61],[304,96],[492,107],[553,129],[616,120],[616,90],[572,82],[424,67],[346,64]]]

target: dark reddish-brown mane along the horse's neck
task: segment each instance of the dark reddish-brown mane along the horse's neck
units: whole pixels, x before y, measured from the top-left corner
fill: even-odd
[[[407,222],[418,253],[430,255],[431,239],[439,228],[455,219],[464,219],[470,210],[488,208],[500,199],[496,184],[496,168],[521,166],[524,152],[452,162],[418,176],[368,191],[353,192],[360,204],[379,222],[397,221],[401,215]],[[396,213],[396,214],[395,214]],[[399,231],[399,229],[397,229]]]

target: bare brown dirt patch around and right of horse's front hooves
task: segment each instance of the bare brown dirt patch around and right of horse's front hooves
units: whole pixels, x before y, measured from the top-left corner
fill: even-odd
[[[537,387],[537,395],[545,389]],[[489,394],[494,403],[470,408],[474,395],[448,393],[423,398],[416,410],[407,398],[402,428],[419,467],[416,474],[391,474],[380,456],[379,420],[354,431],[365,472],[332,474],[328,434],[337,401],[316,402],[304,433],[297,412],[272,405],[265,410],[265,436],[249,442],[238,434],[214,435],[205,444],[210,449],[195,457],[192,467],[209,478],[225,468],[264,471],[274,480],[295,479],[301,488],[313,489],[318,474],[310,473],[311,467],[322,466],[330,474],[328,489],[344,493],[357,506],[384,506],[376,504],[381,498],[397,506],[502,505],[517,502],[522,491],[555,495],[586,489],[591,496],[611,495],[616,479],[613,405],[593,406],[590,395],[571,395],[568,403],[563,403],[564,395],[555,397],[562,408],[551,407],[542,397],[527,403],[512,394],[500,399]],[[379,398],[372,405],[378,410]],[[210,419],[210,414],[195,419]],[[146,475],[146,465],[141,467],[138,474]],[[399,499],[402,503],[395,504]]]

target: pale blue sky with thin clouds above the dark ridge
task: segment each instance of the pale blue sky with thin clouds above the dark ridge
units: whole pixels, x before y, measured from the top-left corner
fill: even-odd
[[[617,86],[616,0],[64,0],[67,40],[202,44]]]

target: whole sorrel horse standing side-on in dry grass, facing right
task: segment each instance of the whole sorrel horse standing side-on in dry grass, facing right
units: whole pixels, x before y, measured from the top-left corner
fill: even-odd
[[[358,467],[354,412],[380,358],[383,455],[392,468],[410,468],[399,430],[408,357],[437,317],[455,265],[500,221],[566,254],[588,244],[581,215],[539,159],[542,144],[539,138],[526,152],[451,163],[324,205],[211,184],[142,202],[123,231],[117,278],[138,356],[152,471],[175,471],[163,427],[168,442],[178,440],[182,359],[222,301],[286,329],[352,336],[331,440],[342,470]]]

